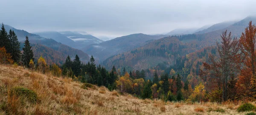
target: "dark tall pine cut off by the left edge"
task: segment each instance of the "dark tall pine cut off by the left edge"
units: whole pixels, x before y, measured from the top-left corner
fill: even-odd
[[[11,41],[8,38],[8,33],[6,32],[3,23],[0,30],[0,47],[5,47],[6,53],[11,53]]]

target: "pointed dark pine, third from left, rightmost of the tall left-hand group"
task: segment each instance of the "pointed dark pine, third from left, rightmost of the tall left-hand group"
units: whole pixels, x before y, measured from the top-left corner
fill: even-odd
[[[26,67],[29,67],[29,62],[31,59],[34,61],[34,54],[31,48],[32,47],[30,46],[30,43],[29,43],[29,37],[26,36],[25,45],[24,45],[24,48],[22,48],[23,49],[22,62],[23,62],[23,65],[25,65]]]

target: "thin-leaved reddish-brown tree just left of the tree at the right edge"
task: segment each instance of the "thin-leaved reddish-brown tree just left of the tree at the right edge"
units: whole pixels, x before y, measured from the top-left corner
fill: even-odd
[[[218,90],[222,90],[222,101],[227,101],[229,80],[237,76],[240,69],[239,40],[233,38],[231,32],[227,34],[226,30],[222,32],[221,44],[216,42],[216,45],[219,58],[216,59],[214,55],[209,54],[209,63],[203,63],[204,70],[201,70],[200,74],[204,81],[212,82],[212,86],[218,86]]]

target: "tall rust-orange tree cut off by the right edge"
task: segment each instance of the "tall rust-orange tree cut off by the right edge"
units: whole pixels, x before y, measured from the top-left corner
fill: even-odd
[[[244,29],[239,42],[241,43],[240,49],[244,56],[244,67],[241,70],[241,76],[239,76],[236,86],[241,91],[239,92],[241,95],[256,98],[256,26],[252,25],[252,21]],[[249,92],[246,91],[248,89],[250,89]]]

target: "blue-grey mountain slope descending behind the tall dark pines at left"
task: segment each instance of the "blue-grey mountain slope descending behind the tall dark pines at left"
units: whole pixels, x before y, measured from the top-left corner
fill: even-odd
[[[25,36],[28,36],[29,37],[29,42],[31,44],[44,45],[44,46],[46,46],[48,48],[51,48],[55,51],[63,53],[64,56],[70,55],[71,57],[74,57],[77,54],[77,55],[79,55],[79,57],[82,61],[88,61],[89,60],[88,54],[84,53],[83,51],[75,49],[75,48],[71,48],[67,45],[63,45],[59,42],[56,42],[53,39],[47,39],[47,38],[44,38],[44,37],[36,35],[36,34],[28,33],[27,31],[24,31],[24,30],[18,30],[18,29],[13,28],[9,25],[5,25],[5,28],[6,28],[7,31],[12,29],[15,32],[15,34],[17,35],[18,40],[22,43],[25,40]],[[23,47],[23,46],[21,45],[21,47]],[[46,48],[46,47],[44,47],[44,48]],[[38,50],[38,52],[40,52],[40,50]],[[58,61],[55,62],[55,63],[58,63]]]

